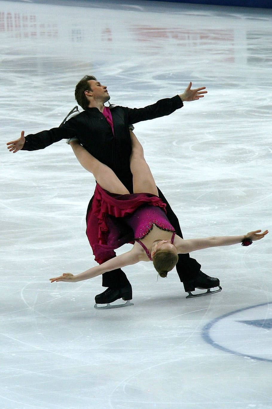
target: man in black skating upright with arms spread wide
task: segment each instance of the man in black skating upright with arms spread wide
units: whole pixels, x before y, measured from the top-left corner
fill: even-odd
[[[205,87],[195,90],[192,90],[191,87],[192,83],[190,82],[184,93],[172,98],[161,99],[144,108],[105,107],[104,104],[110,99],[106,85],[102,85],[94,76],[84,76],[75,87],[75,99],[83,108],[83,112],[58,128],[30,134],[27,137],[24,137],[24,131],[22,131],[19,139],[7,143],[8,149],[13,153],[19,150],[35,151],[61,139],[77,137],[80,144],[100,162],[109,166],[132,193],[129,126],[139,121],[170,115],[181,108],[184,101],[196,101],[207,93]],[[170,223],[177,234],[182,237],[177,216],[159,189],[158,192],[159,197],[166,203],[167,217]],[[89,206],[91,203],[92,199]],[[219,287],[219,279],[209,277],[201,272],[201,265],[189,254],[179,255],[176,268],[179,279],[184,284],[184,290],[189,294],[195,288],[201,288],[207,289],[207,292],[202,293],[206,295],[211,293],[210,288]],[[102,286],[107,287],[107,289],[101,294],[97,294],[95,297],[97,304],[111,303],[128,293],[131,294],[132,298],[131,285],[121,269],[103,274]],[[212,292],[220,291],[220,289],[219,287],[219,290]]]

